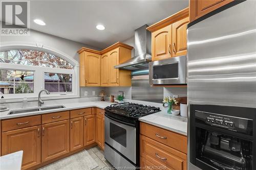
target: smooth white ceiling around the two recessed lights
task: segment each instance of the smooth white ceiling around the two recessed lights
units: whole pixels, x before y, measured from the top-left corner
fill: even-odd
[[[31,29],[105,48],[132,37],[144,24],[152,25],[188,7],[188,0],[31,1],[30,7]],[[46,26],[36,25],[35,18]],[[98,24],[105,30],[97,30]]]

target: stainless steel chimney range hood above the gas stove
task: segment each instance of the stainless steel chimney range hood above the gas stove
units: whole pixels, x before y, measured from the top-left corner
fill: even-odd
[[[147,69],[151,61],[151,32],[144,25],[135,30],[135,56],[114,68],[125,70]]]

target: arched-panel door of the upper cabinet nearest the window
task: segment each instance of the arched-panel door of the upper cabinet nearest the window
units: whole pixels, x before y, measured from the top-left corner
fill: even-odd
[[[100,86],[100,55],[86,53],[86,86]]]

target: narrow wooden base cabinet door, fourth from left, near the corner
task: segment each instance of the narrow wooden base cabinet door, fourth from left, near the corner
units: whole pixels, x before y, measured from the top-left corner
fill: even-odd
[[[84,146],[95,142],[95,115],[84,116]]]

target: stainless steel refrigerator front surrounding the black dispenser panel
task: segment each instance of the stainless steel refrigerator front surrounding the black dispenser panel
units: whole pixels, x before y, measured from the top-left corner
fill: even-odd
[[[256,108],[256,1],[235,1],[191,23],[187,45],[189,143],[191,105]],[[190,163],[193,147],[188,170],[200,169]]]

